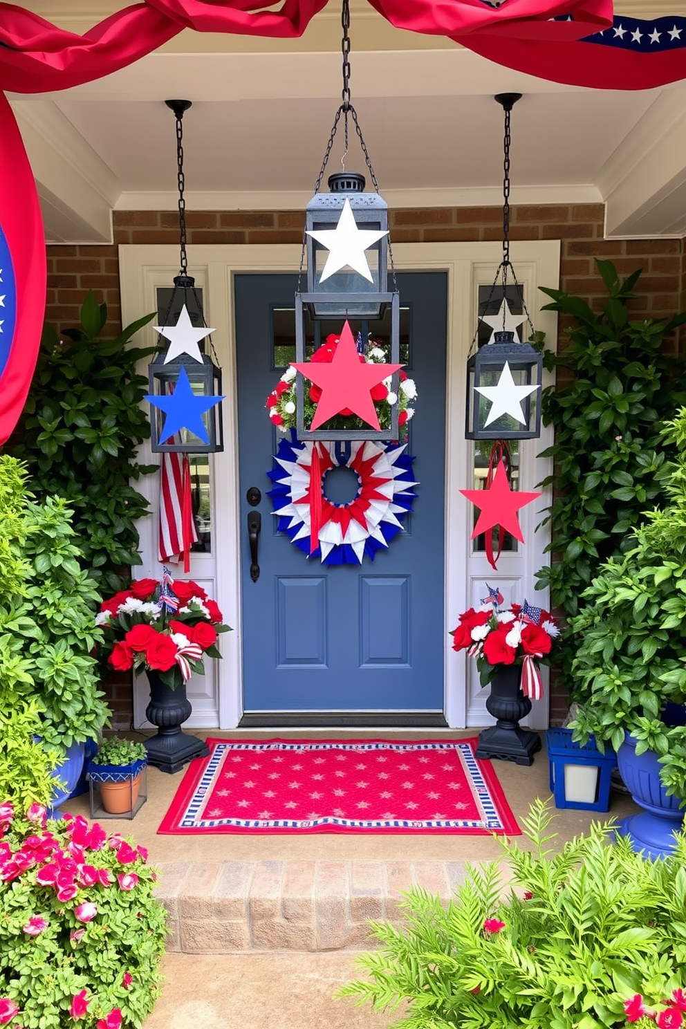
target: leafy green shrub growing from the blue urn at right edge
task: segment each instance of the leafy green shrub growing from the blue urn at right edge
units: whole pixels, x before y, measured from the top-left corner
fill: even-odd
[[[661,718],[667,702],[686,700],[686,407],[660,438],[677,453],[660,478],[664,506],[644,512],[627,553],[602,565],[571,622],[572,726],[615,750],[630,733],[638,754],[660,755],[662,784],[686,803],[686,728]]]

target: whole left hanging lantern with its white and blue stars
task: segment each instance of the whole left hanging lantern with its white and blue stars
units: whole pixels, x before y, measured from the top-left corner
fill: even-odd
[[[150,392],[146,400],[152,406],[151,447],[155,454],[214,454],[223,450],[221,369],[205,353],[206,340],[214,353],[210,336],[213,329],[205,323],[195,280],[188,275],[186,257],[182,118],[191,103],[189,100],[167,100],[165,103],[176,116],[181,251],[181,268],[174,279],[165,322],[172,310],[179,309],[179,301],[181,304],[175,325],[155,325],[166,349],[156,354],[148,366]],[[187,304],[191,297],[192,303]],[[200,326],[192,324],[188,307],[196,313]]]

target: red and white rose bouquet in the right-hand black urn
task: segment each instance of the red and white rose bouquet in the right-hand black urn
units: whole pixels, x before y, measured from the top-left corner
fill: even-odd
[[[502,602],[500,594],[498,598]],[[548,663],[552,641],[559,635],[557,624],[548,611],[533,607],[526,600],[501,611],[493,600],[461,614],[450,635],[454,650],[467,649],[470,658],[476,658],[482,685],[491,681],[497,665],[517,664],[521,665],[522,693],[540,700],[542,681],[538,663]]]

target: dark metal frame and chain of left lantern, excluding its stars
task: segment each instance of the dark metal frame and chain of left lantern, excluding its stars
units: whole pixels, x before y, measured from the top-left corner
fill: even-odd
[[[166,100],[165,103],[174,112],[176,117],[180,271],[178,276],[174,279],[174,290],[167,308],[167,316],[163,320],[166,322],[167,318],[169,318],[170,312],[174,307],[175,299],[179,292],[183,292],[184,305],[188,293],[191,293],[194,300],[194,308],[201,314],[203,325],[207,327],[205,315],[203,314],[203,305],[195,289],[195,280],[192,276],[188,275],[188,258],[186,255],[183,115],[192,105],[190,100]],[[164,338],[160,333],[160,347],[163,346],[163,339]],[[212,338],[209,332],[205,339],[209,341],[210,349],[216,358],[217,355],[215,353],[214,346],[212,345]],[[196,361],[189,354],[180,354],[175,360],[166,362],[165,359],[169,350],[167,346],[165,346],[165,349],[160,350],[160,352],[155,355],[148,365],[148,391],[151,396],[171,395],[172,387],[178,381],[182,368],[185,368],[191,388],[193,387],[193,383],[201,384],[202,388],[197,391],[197,395],[221,396],[221,368],[218,363],[215,364],[212,358],[205,353],[205,340],[201,341],[198,346],[203,355],[202,362]],[[195,390],[193,390],[193,392],[195,392]],[[171,441],[163,441],[160,433],[165,424],[165,412],[159,407],[152,406],[150,416],[150,447],[153,454],[215,454],[224,449],[221,401],[219,403],[215,403],[203,414],[203,423],[208,434],[208,442],[205,442],[200,438],[200,436],[196,436],[194,433],[186,430],[182,430],[181,432],[178,432],[174,436],[170,437]]]

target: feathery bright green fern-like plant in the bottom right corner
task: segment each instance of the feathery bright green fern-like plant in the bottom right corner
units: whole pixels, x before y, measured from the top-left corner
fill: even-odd
[[[402,928],[371,923],[381,948],[357,959],[370,978],[339,995],[403,1004],[404,1029],[618,1029],[644,998],[676,1019],[686,840],[666,860],[644,860],[625,839],[608,845],[611,826],[595,823],[557,850],[551,818],[537,801],[523,819],[531,848],[502,841],[509,892],[500,862],[471,866],[446,907],[410,890]]]

